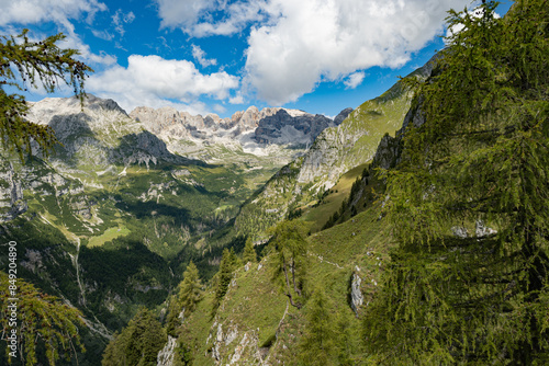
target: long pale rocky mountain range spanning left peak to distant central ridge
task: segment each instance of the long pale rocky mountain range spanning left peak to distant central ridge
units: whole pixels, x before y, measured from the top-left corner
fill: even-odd
[[[170,106],[139,106],[127,114],[115,101],[92,94],[83,103],[77,98],[47,98],[30,106],[29,119],[49,125],[64,145],[57,152],[75,156],[79,151],[85,160],[96,157],[96,163],[107,163],[109,155],[103,151],[100,158],[98,147],[112,150],[126,136],[142,136],[146,131],[149,134],[146,140],[153,138],[156,142],[147,145],[152,147],[147,149],[150,157],[145,161],[164,159],[169,151],[208,163],[269,157],[277,165],[283,165],[302,155],[325,128],[340,124],[351,111],[344,110],[335,119],[299,110],[256,106],[225,118],[216,114],[191,115]],[[155,151],[164,152],[156,157]]]

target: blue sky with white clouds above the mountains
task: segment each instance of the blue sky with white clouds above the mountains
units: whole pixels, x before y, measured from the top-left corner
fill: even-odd
[[[477,2],[478,3],[478,2]],[[502,1],[504,14],[512,1]],[[96,72],[87,91],[128,113],[171,105],[222,117],[250,105],[335,116],[444,47],[470,0],[0,0],[0,33],[63,32]],[[54,96],[70,95],[67,89]],[[38,101],[41,90],[25,95]],[[51,95],[49,95],[51,96]]]

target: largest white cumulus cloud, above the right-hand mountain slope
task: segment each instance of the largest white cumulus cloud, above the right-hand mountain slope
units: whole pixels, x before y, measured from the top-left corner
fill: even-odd
[[[260,99],[284,104],[325,80],[335,81],[373,66],[403,66],[411,53],[444,31],[448,9],[469,3],[270,0],[264,9],[270,22],[253,28],[248,39],[246,82]]]

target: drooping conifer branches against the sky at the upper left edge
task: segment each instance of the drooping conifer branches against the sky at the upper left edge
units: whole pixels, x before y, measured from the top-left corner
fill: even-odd
[[[15,150],[21,159],[24,152],[31,153],[32,140],[47,153],[57,139],[51,127],[25,118],[29,111],[25,98],[8,94],[4,85],[19,91],[42,85],[52,93],[63,82],[72,87],[75,94],[83,102],[85,78],[93,71],[76,58],[78,50],[57,46],[65,38],[61,33],[40,42],[31,41],[27,33],[24,30],[15,37],[0,35],[0,139],[5,149]]]

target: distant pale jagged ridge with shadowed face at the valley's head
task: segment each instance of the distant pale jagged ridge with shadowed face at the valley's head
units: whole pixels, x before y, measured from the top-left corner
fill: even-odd
[[[139,106],[130,117],[158,136],[175,153],[220,162],[220,152],[242,151],[254,156],[290,158],[302,153],[327,127],[337,126],[352,111],[344,110],[334,121],[299,110],[249,106],[221,118],[216,114],[191,115],[173,107]],[[212,146],[219,149],[212,153]],[[290,147],[290,150],[285,150]],[[220,151],[220,150],[224,150]]]

